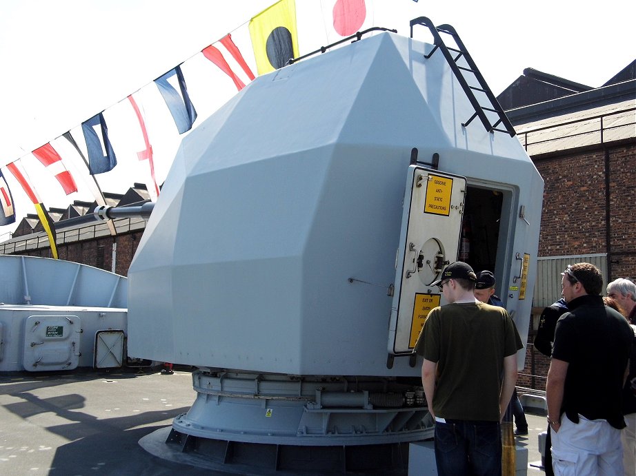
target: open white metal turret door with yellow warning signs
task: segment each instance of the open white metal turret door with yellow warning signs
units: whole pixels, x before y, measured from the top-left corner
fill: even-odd
[[[393,355],[410,355],[430,309],[441,296],[430,283],[457,260],[466,178],[408,167],[397,251],[395,292],[389,325],[387,365]]]

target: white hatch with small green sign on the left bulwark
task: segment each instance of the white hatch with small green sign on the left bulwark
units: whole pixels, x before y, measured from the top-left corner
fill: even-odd
[[[72,370],[79,363],[77,315],[30,315],[25,321],[23,366],[32,372]]]

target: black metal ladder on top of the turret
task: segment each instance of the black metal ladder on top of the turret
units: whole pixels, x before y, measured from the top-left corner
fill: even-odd
[[[453,73],[455,73],[457,81],[459,81],[459,84],[464,89],[464,92],[466,93],[470,104],[472,104],[473,108],[475,109],[475,114],[473,114],[473,116],[470,116],[468,121],[466,121],[465,123],[461,123],[461,125],[463,125],[464,127],[468,127],[473,119],[479,116],[479,119],[481,119],[481,123],[484,124],[484,127],[486,127],[486,130],[488,132],[506,132],[510,134],[510,137],[514,137],[517,134],[515,132],[515,128],[510,123],[510,120],[508,120],[508,116],[506,116],[504,110],[501,109],[501,105],[499,105],[499,101],[497,101],[497,98],[495,98],[493,92],[490,91],[490,88],[486,84],[484,76],[481,76],[479,69],[477,69],[477,65],[475,65],[475,61],[473,61],[473,58],[470,56],[470,54],[468,54],[468,50],[466,50],[464,43],[462,43],[461,39],[459,39],[459,35],[455,31],[455,28],[450,25],[439,25],[436,27],[435,25],[433,25],[433,22],[430,21],[430,19],[426,17],[418,17],[410,21],[411,38],[413,38],[414,25],[426,26],[428,30],[430,30],[431,34],[433,34],[435,48],[433,48],[433,50],[429,54],[425,54],[424,58],[429,59],[430,56],[433,56],[433,53],[435,53],[435,51],[439,49],[441,53],[444,54],[444,58],[446,58],[448,65],[450,65],[450,69],[453,70]],[[446,46],[439,33],[450,34],[450,36],[453,37],[457,48],[449,48],[448,46]],[[453,56],[453,54],[456,54],[456,56]],[[466,65],[468,65],[468,68],[457,63],[457,61],[459,61],[460,59],[464,59]],[[464,76],[465,73],[472,74],[477,80],[479,86],[469,85],[468,81],[466,81],[466,77]],[[481,103],[475,96],[475,92],[479,92],[485,95],[486,99],[488,99],[488,105],[481,105]],[[486,114],[486,111],[494,113],[490,114],[491,116],[497,116],[497,121],[495,121],[495,123],[490,123],[490,118],[488,118],[488,114]],[[503,125],[505,129],[497,128],[497,126],[499,125]]]

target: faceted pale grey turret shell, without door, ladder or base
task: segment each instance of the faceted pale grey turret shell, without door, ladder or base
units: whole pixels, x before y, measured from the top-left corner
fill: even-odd
[[[413,147],[469,186],[505,192],[495,271],[528,329],[543,180],[517,138],[461,126],[472,106],[441,55],[424,59],[432,49],[384,33],[295,63],[183,139],[128,273],[131,355],[417,377],[408,358],[386,366]]]

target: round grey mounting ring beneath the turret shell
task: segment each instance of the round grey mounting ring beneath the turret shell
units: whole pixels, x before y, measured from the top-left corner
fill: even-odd
[[[196,437],[295,446],[433,437],[424,397],[406,404],[407,386],[386,380],[195,371],[192,386],[197,400],[172,428]]]

